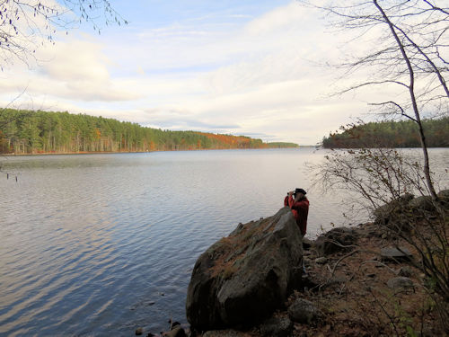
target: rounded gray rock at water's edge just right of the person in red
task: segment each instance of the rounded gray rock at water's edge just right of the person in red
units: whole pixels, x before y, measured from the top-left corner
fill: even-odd
[[[339,251],[350,250],[345,247],[357,242],[357,233],[348,227],[338,227],[318,236],[315,249],[321,255],[329,255]]]

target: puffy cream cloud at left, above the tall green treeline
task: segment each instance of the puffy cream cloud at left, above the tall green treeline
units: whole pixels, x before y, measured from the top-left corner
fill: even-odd
[[[40,49],[37,59],[39,64],[31,71],[22,65],[6,69],[7,81],[0,83],[0,92],[22,92],[26,88],[37,99],[43,95],[89,102],[139,98],[125,81],[110,77],[109,58],[101,52],[101,45],[90,40],[58,41],[55,46]]]

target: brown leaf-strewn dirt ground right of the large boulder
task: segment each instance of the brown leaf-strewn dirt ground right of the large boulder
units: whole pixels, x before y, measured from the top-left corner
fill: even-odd
[[[313,246],[304,251],[309,287],[289,298],[307,299],[321,310],[313,324],[295,324],[292,336],[445,336],[435,301],[422,287],[425,275],[407,261],[385,260],[383,247],[394,244],[378,226],[357,226],[351,250],[319,258]],[[399,242],[417,257],[416,250]],[[318,262],[317,262],[318,261]],[[390,288],[389,279],[408,277],[409,288]],[[307,281],[307,279],[305,279]],[[279,311],[277,315],[287,315]],[[257,331],[253,331],[258,335]]]

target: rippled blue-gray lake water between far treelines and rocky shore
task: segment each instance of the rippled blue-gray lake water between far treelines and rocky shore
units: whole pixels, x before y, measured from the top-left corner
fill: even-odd
[[[449,150],[432,149],[444,171]],[[200,253],[308,188],[312,148],[0,157],[0,335],[133,335],[186,323]],[[441,171],[441,170],[440,170]],[[345,221],[308,193],[308,235]]]

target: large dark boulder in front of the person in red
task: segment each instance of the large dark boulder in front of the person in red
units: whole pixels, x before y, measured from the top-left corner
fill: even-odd
[[[256,324],[301,281],[302,238],[290,208],[239,224],[199,256],[186,314],[198,330]]]

